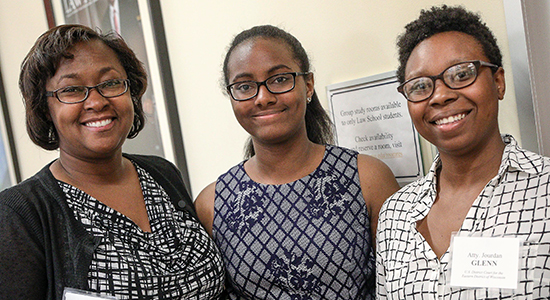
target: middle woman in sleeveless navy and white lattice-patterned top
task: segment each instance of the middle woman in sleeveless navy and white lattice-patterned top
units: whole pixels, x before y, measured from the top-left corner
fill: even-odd
[[[389,168],[332,146],[300,42],[274,26],[238,34],[224,65],[245,160],[195,205],[222,252],[232,299],[374,299],[379,207]]]

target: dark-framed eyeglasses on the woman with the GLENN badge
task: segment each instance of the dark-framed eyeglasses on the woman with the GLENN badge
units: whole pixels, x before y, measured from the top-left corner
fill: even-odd
[[[403,94],[408,101],[421,102],[433,95],[437,79],[441,79],[450,89],[462,89],[476,81],[479,68],[482,66],[491,68],[493,73],[499,68],[497,65],[481,60],[464,61],[448,67],[436,76],[420,76],[409,79],[399,85],[397,91]]]

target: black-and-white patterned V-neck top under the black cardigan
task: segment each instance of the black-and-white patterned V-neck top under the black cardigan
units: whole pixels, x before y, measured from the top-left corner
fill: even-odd
[[[59,181],[67,203],[101,239],[88,272],[89,290],[117,299],[214,299],[224,280],[217,249],[187,211],[134,164],[152,232],[80,189]],[[216,254],[216,255],[213,255]]]

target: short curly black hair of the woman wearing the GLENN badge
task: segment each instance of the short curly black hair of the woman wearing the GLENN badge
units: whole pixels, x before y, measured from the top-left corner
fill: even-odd
[[[405,81],[405,67],[414,48],[425,39],[447,31],[458,31],[474,37],[489,62],[502,66],[502,54],[496,38],[478,14],[467,11],[462,6],[434,6],[429,10],[422,10],[418,19],[407,24],[405,32],[397,38],[399,82]]]

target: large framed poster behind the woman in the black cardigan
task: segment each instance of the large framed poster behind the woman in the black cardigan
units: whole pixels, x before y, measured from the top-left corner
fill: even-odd
[[[124,143],[128,153],[151,154],[175,163],[189,187],[187,162],[159,0],[44,0],[48,24],[82,24],[116,32],[148,74],[142,97],[145,128]]]

